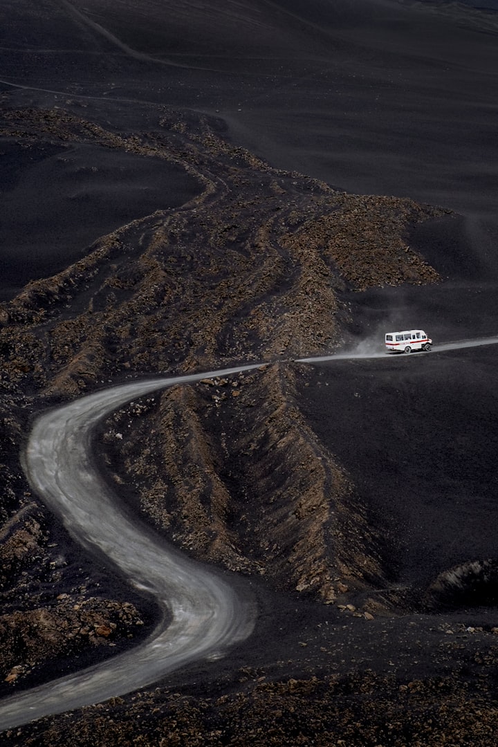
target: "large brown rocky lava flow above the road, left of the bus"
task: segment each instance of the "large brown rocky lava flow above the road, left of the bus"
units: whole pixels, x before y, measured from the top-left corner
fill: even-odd
[[[0,309],[3,370],[23,391],[74,396],[128,371],[332,350],[346,287],[436,282],[405,240],[447,211],[355,196],[271,168],[225,143],[217,121],[168,112],[128,137],[63,111],[7,111],[0,134],[29,146],[99,143],[181,163],[201,195],[103,237]]]

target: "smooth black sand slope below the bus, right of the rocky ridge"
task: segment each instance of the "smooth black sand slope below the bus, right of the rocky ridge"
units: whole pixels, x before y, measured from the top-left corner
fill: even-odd
[[[496,365],[489,346],[304,376],[303,411],[383,528],[401,584],[426,589],[455,565],[497,557]]]

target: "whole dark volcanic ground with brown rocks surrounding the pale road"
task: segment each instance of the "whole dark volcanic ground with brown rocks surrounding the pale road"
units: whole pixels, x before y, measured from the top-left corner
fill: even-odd
[[[205,5],[7,4],[1,693],[153,629],[22,474],[37,412],[124,379],[270,364],[138,399],[94,439],[131,511],[249,580],[255,633],[2,739],[489,746],[496,353],[296,359],[382,347],[387,323],[496,333],[496,13]]]

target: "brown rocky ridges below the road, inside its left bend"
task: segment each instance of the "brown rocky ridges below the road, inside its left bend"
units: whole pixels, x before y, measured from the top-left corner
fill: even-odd
[[[185,551],[332,604],[380,582],[379,537],[305,424],[295,376],[272,365],[137,400],[98,447],[116,490]]]

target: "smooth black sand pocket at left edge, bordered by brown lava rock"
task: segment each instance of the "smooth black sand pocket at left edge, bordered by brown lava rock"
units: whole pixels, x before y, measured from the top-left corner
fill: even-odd
[[[71,143],[2,142],[4,270],[0,300],[26,282],[59,272],[90,244],[135,218],[175,208],[199,192],[180,167]]]

